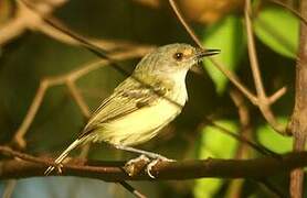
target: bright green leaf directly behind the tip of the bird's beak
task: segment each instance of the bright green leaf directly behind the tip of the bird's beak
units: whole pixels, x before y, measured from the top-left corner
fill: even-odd
[[[203,45],[207,48],[220,48],[221,54],[216,55],[215,58],[227,69],[234,70],[246,46],[244,34],[241,19],[230,15],[205,29]],[[229,81],[227,78],[209,59],[204,58],[203,63],[215,84],[216,92],[223,94]]]

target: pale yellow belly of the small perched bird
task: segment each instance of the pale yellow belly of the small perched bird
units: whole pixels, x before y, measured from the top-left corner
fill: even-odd
[[[165,99],[155,106],[139,109],[121,119],[104,123],[96,131],[94,141],[110,144],[136,145],[149,141],[180,112],[179,106]]]

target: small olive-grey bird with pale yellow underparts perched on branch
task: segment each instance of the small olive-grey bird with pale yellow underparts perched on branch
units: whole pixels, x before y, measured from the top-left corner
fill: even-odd
[[[59,166],[75,147],[88,142],[105,142],[116,148],[161,155],[131,147],[149,141],[171,122],[188,100],[186,76],[204,56],[219,50],[202,50],[189,44],[169,44],[147,54],[93,113],[81,135],[56,160]],[[49,175],[55,167],[45,170]]]

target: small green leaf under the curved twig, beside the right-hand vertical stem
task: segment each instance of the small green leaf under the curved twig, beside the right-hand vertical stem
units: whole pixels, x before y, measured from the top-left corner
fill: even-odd
[[[286,125],[287,119],[280,118],[278,119],[278,122]],[[280,135],[279,133],[274,131],[268,124],[261,125],[257,129],[256,134],[261,144],[265,145],[267,148],[276,153],[290,152],[293,148],[293,138]]]

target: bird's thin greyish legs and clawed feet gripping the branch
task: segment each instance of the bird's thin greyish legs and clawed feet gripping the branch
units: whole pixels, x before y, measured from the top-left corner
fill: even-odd
[[[151,169],[158,162],[160,162],[160,161],[174,162],[174,160],[167,158],[167,157],[165,157],[160,154],[157,154],[157,153],[152,153],[152,152],[148,152],[148,151],[144,151],[144,150],[138,150],[138,148],[129,147],[129,146],[123,146],[123,145],[118,145],[118,144],[114,145],[114,146],[118,150],[141,154],[139,157],[133,158],[129,162],[127,162],[126,163],[127,166],[131,166],[133,164],[145,160],[146,156],[152,158],[154,161],[151,161],[146,167],[146,172],[151,178],[155,178],[155,176],[151,174]]]

